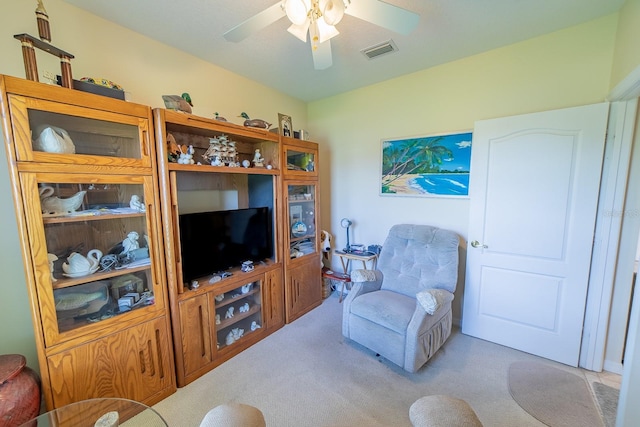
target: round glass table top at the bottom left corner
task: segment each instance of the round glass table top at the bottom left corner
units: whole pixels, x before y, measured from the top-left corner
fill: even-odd
[[[26,422],[21,427],[166,427],[154,409],[128,399],[100,398],[71,403]]]

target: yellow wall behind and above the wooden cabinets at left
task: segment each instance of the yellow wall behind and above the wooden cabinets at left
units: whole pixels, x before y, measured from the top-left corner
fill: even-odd
[[[15,34],[38,34],[35,1],[3,0],[0,6],[0,74],[24,78],[20,43]],[[277,123],[278,112],[290,114],[304,128],[306,104],[266,86],[201,61],[125,28],[87,14],[60,0],[46,0],[52,44],[75,56],[72,71],[104,77],[122,85],[131,101],[163,107],[161,95],[189,92],[194,113],[213,117],[216,111],[235,123],[246,111],[253,118]],[[60,73],[58,58],[37,54],[38,70]],[[40,81],[45,81],[40,78]],[[22,259],[4,150],[0,154],[0,354],[20,353],[37,368]]]

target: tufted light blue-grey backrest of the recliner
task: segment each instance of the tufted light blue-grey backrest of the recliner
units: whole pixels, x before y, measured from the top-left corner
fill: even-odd
[[[456,290],[458,279],[456,233],[429,225],[398,224],[382,245],[378,270],[382,289],[415,298],[425,289]]]

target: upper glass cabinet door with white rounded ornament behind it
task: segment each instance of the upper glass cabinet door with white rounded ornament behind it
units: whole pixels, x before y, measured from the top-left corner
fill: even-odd
[[[149,117],[11,95],[19,161],[150,167]],[[132,104],[132,110],[136,108]]]

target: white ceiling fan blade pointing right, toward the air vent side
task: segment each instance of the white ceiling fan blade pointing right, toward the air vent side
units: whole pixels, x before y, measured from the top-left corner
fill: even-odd
[[[380,0],[352,1],[345,13],[404,35],[413,31],[420,20],[417,13]]]

